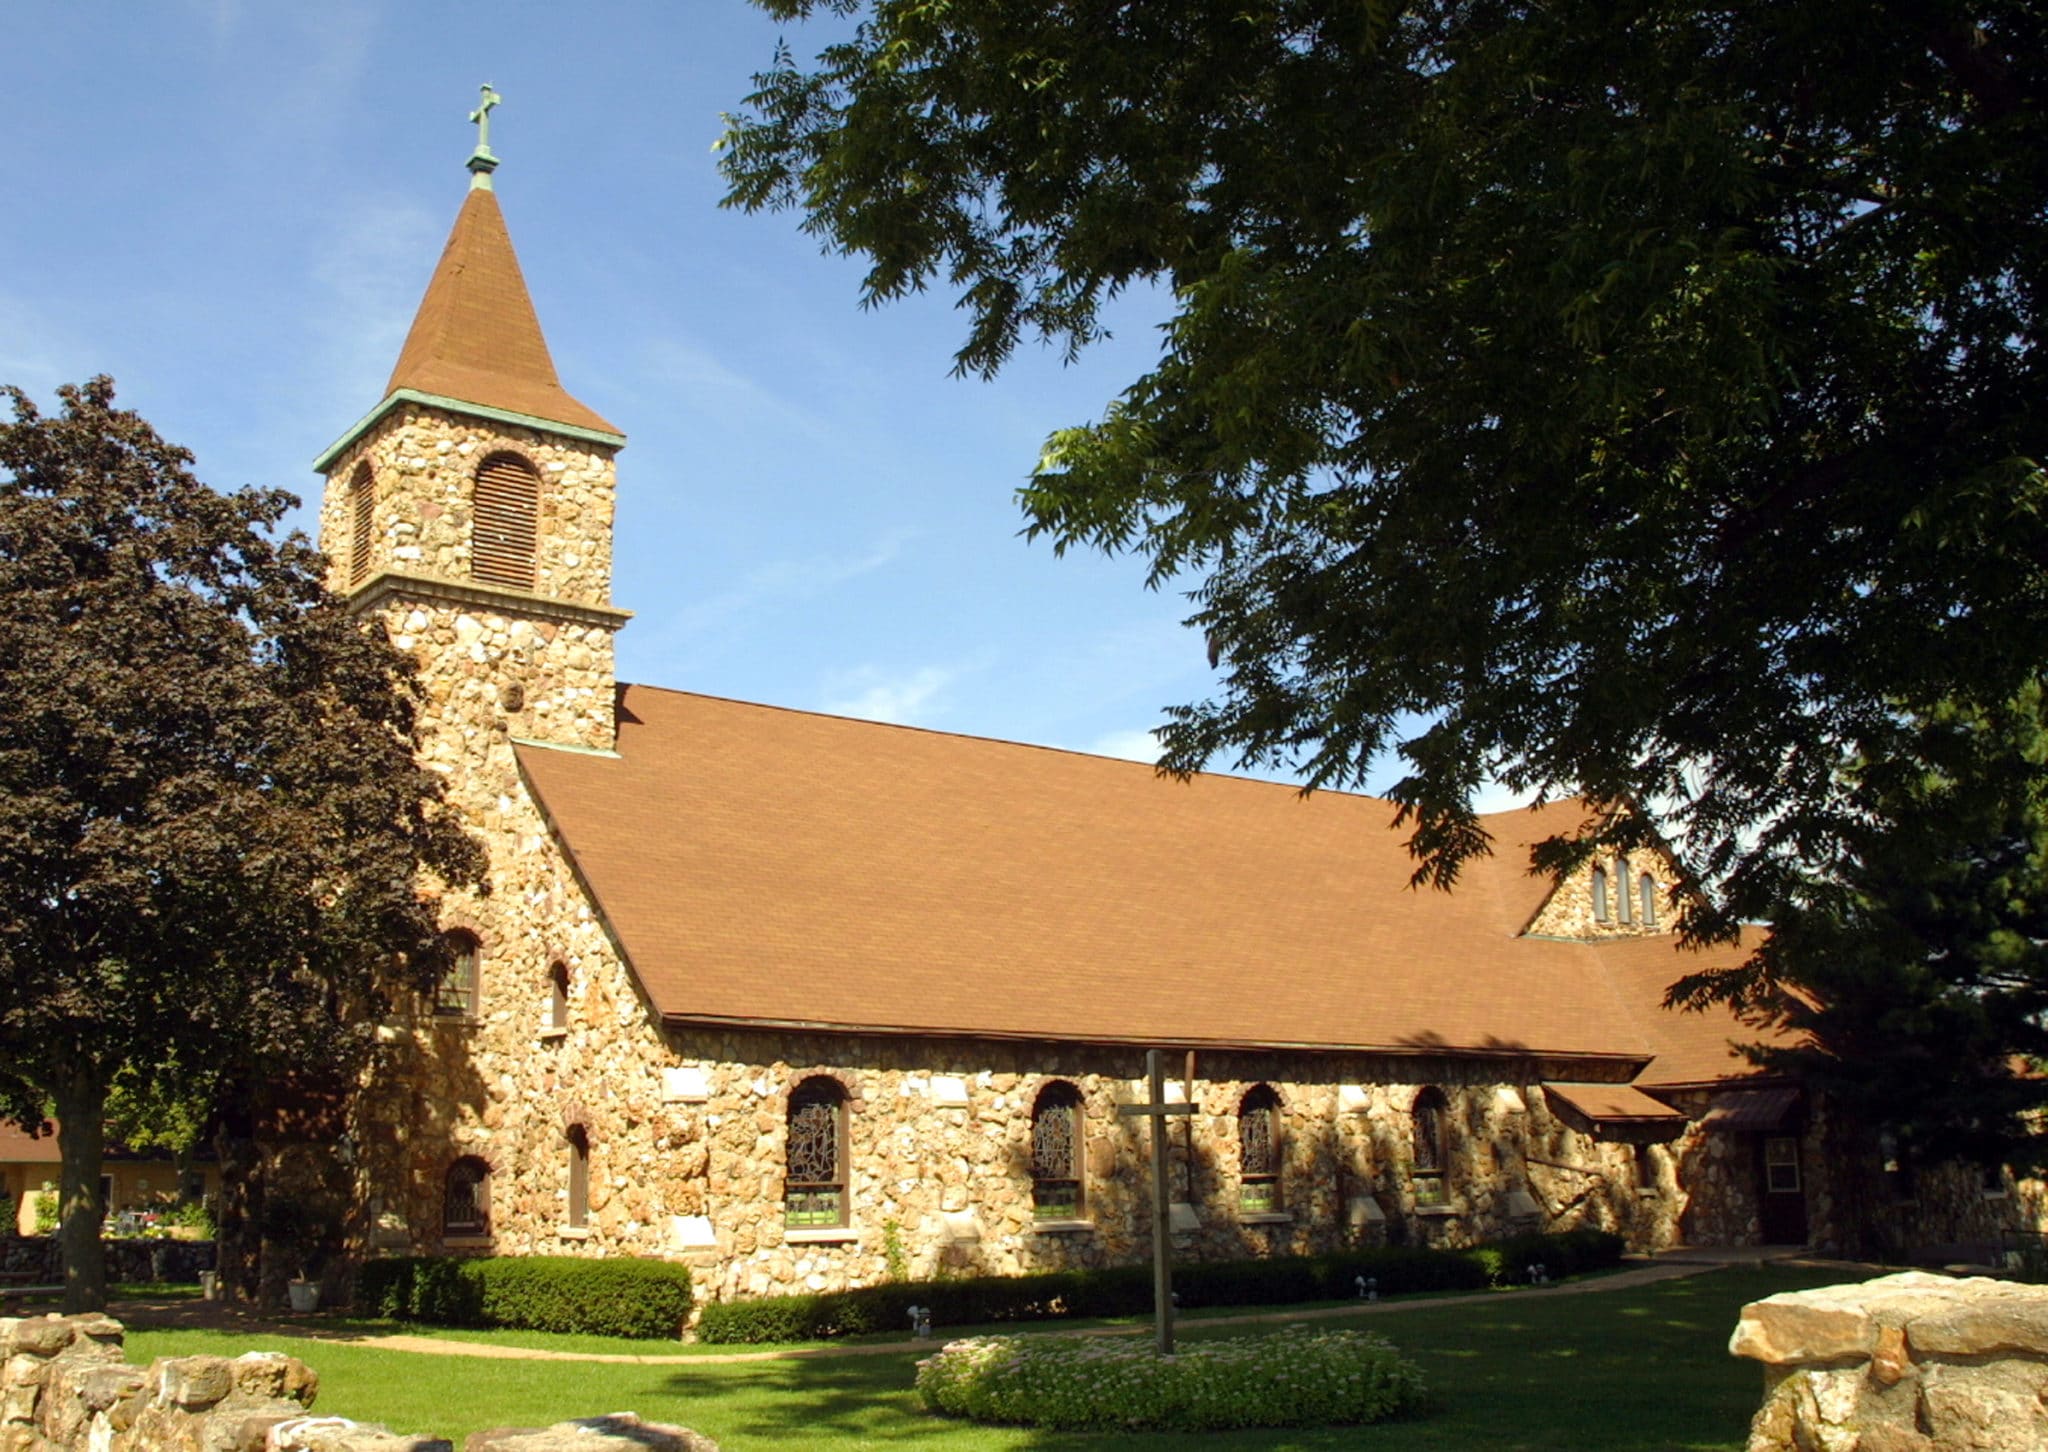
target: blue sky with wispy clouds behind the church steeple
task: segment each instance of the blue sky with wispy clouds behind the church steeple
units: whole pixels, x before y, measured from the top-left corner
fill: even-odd
[[[1026,344],[954,379],[950,297],[860,311],[858,262],[795,215],[719,209],[719,113],[817,25],[743,0],[16,0],[6,29],[0,381],[49,405],[111,373],[207,481],[313,500],[311,459],[383,393],[489,82],[555,365],[629,436],[623,678],[1118,756],[1210,692],[1192,606],[1141,561],[1018,537],[1040,442],[1151,362],[1161,299],[1077,365]]]

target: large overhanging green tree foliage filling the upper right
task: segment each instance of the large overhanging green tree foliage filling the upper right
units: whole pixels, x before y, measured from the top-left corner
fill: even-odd
[[[2040,4],[756,4],[838,39],[729,119],[729,203],[952,289],[963,371],[1167,289],[1022,504],[1192,586],[1169,768],[1397,752],[1440,883],[1489,774],[1642,803],[1597,821],[1712,938],[2048,659]]]

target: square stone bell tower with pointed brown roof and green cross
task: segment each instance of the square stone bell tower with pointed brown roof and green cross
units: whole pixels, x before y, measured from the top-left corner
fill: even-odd
[[[420,661],[424,764],[489,815],[510,741],[610,750],[612,424],[555,377],[506,233],[485,86],[469,195],[383,401],[313,467],[328,584]],[[467,791],[465,791],[467,786]]]

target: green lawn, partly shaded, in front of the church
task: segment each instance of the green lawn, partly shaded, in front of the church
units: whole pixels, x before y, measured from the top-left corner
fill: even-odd
[[[1327,1432],[1204,1436],[1202,1448],[1382,1448],[1407,1452],[1737,1452],[1761,1393],[1726,1352],[1743,1302],[1841,1280],[1810,1268],[1720,1270],[1638,1290],[1499,1296],[1362,1315],[1430,1376],[1415,1421]],[[1348,1321],[1350,1323],[1350,1321]],[[1245,1327],[1188,1327],[1243,1335]],[[522,1337],[524,1339],[524,1337]],[[207,1331],[135,1331],[131,1360],[238,1354],[262,1343]],[[272,1341],[319,1372],[319,1409],[461,1446],[489,1425],[545,1425],[631,1409],[680,1421],[729,1452],[754,1448],[987,1448],[1016,1452],[1182,1448],[1184,1436],[1067,1436],[928,1417],[909,1391],[928,1350],[745,1366],[414,1356],[371,1346]],[[641,1352],[657,1350],[639,1343]]]

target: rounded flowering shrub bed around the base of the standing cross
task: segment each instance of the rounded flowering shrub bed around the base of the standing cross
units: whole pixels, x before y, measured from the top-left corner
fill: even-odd
[[[1368,1331],[1196,1341],[1178,1356],[1104,1337],[987,1335],[918,1362],[932,1411],[1059,1432],[1221,1432],[1378,1421],[1421,1403],[1421,1372]]]

